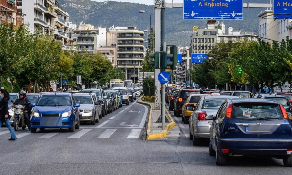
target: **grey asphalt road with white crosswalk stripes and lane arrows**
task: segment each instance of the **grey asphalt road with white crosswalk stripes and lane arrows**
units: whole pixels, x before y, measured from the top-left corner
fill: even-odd
[[[26,129],[16,131],[15,141],[8,140],[4,126],[0,174],[291,174],[281,160],[268,158],[232,158],[227,166],[216,166],[208,141],[193,146],[181,118],[174,117],[179,137],[143,140],[145,110],[134,102],[74,133]]]

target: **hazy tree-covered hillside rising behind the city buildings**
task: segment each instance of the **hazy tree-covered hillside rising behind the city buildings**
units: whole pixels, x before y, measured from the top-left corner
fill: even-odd
[[[70,15],[69,21],[79,24],[81,21],[94,26],[108,28],[110,26],[136,26],[147,30],[150,25],[150,14],[139,13],[139,10],[153,11],[153,6],[144,4],[89,0],[59,0],[62,8]],[[244,0],[244,3],[266,3],[266,0]],[[257,14],[264,8],[244,8],[243,20],[223,20],[226,29],[232,26],[234,30],[258,33],[259,18]],[[152,13],[152,19],[154,14]],[[221,22],[221,21],[220,21]],[[153,20],[152,20],[153,24]],[[192,27],[204,28],[206,20],[184,20],[183,8],[166,9],[166,41],[167,44],[189,46]]]

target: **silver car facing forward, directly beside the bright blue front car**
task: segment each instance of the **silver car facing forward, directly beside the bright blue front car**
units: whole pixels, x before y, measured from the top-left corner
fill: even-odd
[[[80,104],[79,120],[80,122],[91,122],[91,125],[99,122],[99,102],[94,102],[94,97],[91,94],[74,94],[76,103]]]

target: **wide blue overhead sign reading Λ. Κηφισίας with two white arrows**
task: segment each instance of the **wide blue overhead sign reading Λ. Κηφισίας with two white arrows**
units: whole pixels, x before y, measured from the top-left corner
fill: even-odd
[[[243,19],[243,0],[184,0],[184,19]]]

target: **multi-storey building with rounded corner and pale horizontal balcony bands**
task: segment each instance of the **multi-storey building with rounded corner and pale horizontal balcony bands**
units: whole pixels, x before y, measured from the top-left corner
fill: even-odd
[[[136,27],[116,27],[118,67],[126,73],[126,79],[139,82],[141,62],[144,57],[144,31]]]

